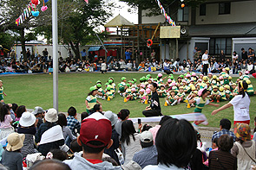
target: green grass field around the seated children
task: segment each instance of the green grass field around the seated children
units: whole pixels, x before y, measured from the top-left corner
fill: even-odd
[[[89,87],[95,85],[97,80],[102,83],[112,76],[117,85],[121,81],[121,77],[125,76],[127,79],[139,79],[141,76],[146,76],[147,73],[64,73],[59,74],[59,111],[67,112],[70,106],[74,106],[78,113],[85,111],[85,98],[89,93]],[[156,77],[156,74],[152,74]],[[177,75],[174,75],[177,78]],[[3,76],[4,92],[7,97],[4,97],[5,103],[16,103],[18,105],[25,105],[26,108],[34,109],[35,106],[42,106],[44,110],[53,107],[53,85],[52,75],[37,74],[37,75],[16,75],[16,76]],[[233,78],[235,81],[236,78]],[[256,79],[251,79],[253,86],[256,86]],[[250,115],[251,125],[253,127],[253,119],[256,109],[256,97],[251,98]],[[136,101],[123,102],[123,98],[115,95],[111,101],[100,100],[103,110],[112,110],[118,113],[121,109],[128,109],[132,117],[143,116],[142,110],[147,106],[146,104],[138,103]],[[186,104],[179,104],[175,106],[163,106],[164,98],[161,98],[161,109],[164,115],[176,115],[193,112],[194,108],[187,109]],[[226,102],[220,103],[220,105]],[[221,118],[228,118],[233,122],[233,108],[219,112],[215,116],[211,116],[211,112],[216,107],[207,105],[203,109],[203,113],[207,116],[209,125],[211,127],[219,127]]]

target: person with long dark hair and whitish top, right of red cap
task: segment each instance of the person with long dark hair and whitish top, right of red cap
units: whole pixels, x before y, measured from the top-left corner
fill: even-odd
[[[141,131],[142,125],[139,124]],[[141,134],[135,130],[134,123],[131,120],[126,120],[121,123],[121,151],[124,158],[124,165],[132,161],[136,152],[141,150],[140,145]]]

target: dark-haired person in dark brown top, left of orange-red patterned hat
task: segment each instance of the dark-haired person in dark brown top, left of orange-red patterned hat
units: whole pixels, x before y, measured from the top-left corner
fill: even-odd
[[[237,169],[237,158],[230,154],[230,149],[233,148],[233,137],[227,134],[221,135],[218,145],[219,150],[210,152],[209,169]]]

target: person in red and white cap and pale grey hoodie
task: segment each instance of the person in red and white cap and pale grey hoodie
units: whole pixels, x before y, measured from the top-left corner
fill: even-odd
[[[105,148],[113,144],[111,122],[101,113],[94,113],[82,120],[81,133],[77,142],[82,146],[82,154],[75,153],[73,160],[64,161],[71,169],[121,170],[107,161],[102,161]]]

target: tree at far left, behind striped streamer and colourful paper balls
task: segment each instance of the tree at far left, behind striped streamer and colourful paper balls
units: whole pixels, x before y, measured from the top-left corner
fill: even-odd
[[[30,40],[33,36],[36,37],[36,35],[30,35],[30,37],[26,36],[25,30],[31,31],[33,28],[51,24],[51,1],[46,3],[48,9],[42,12],[40,9],[43,6],[43,1],[41,0],[41,4],[37,5],[37,10],[40,10],[40,15],[37,17],[30,15],[22,24],[17,26],[16,18],[23,13],[23,9],[26,9],[29,3],[30,1],[24,0],[2,0],[0,4],[0,32],[11,30],[19,34],[16,38],[21,41],[24,60],[27,60],[25,41]],[[68,16],[69,10],[74,10],[76,6],[78,6],[78,4],[73,3],[71,0],[66,2],[58,0],[58,3],[60,4],[58,9],[59,19]],[[33,34],[33,32],[30,33]]]

